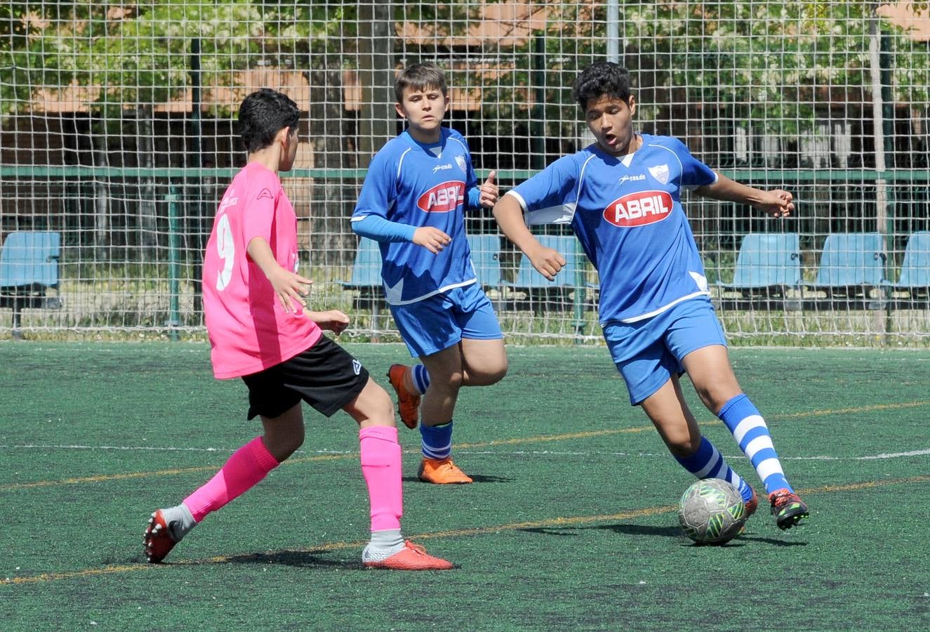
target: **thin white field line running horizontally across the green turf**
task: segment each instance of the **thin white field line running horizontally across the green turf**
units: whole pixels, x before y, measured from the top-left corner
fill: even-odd
[[[54,445],[26,443],[19,445],[0,445],[0,450],[139,450],[139,451],[166,451],[166,452],[228,452],[233,453],[233,449],[225,448],[158,448],[154,446],[88,446],[88,445]],[[358,450],[297,450],[296,454],[356,454]],[[497,456],[641,456],[641,457],[665,457],[667,452],[591,452],[578,450],[470,450],[463,448],[456,450],[457,454],[484,454]],[[881,454],[869,454],[866,456],[829,456],[827,454],[818,454],[815,456],[779,456],[781,461],[876,461],[881,459],[898,459],[908,456],[924,456],[930,454],[930,449],[910,450],[907,452],[883,452]],[[724,455],[726,459],[746,458],[742,454]]]

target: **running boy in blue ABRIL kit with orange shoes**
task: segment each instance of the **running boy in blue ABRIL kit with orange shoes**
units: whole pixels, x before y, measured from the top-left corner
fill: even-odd
[[[507,372],[498,318],[465,238],[466,208],[492,208],[498,199],[495,172],[479,186],[465,139],[442,127],[446,92],[432,64],[397,76],[394,107],[407,128],[372,158],[352,213],[352,230],[379,242],[388,305],[421,362],[392,365],[388,379],[401,420],[414,428],[422,416],[419,478],[439,484],[472,482],[451,456],[458,389],[497,383]]]

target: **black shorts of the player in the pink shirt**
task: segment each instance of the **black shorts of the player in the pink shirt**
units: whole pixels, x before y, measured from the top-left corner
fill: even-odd
[[[248,386],[248,419],[278,417],[301,399],[331,417],[362,392],[368,370],[323,336],[297,356],[242,380]]]

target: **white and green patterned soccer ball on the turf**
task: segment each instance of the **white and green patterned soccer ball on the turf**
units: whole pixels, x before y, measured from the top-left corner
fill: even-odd
[[[742,495],[722,478],[698,480],[678,502],[682,531],[698,545],[729,542],[742,531],[746,518]]]

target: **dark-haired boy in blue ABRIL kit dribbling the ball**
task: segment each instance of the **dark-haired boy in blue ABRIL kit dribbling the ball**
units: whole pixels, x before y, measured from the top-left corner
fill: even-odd
[[[503,195],[494,208],[498,224],[551,280],[565,259],[543,247],[527,225],[570,223],[600,274],[599,319],[631,404],[643,408],[685,469],[733,483],[751,514],[755,492],[701,436],[688,410],[679,383],[687,372],[701,401],[763,480],[777,526],[790,529],[807,518],[807,506],[791,488],[762,415],[730,367],[680,195],[690,189],[774,217],[794,209],[791,195],[734,182],[695,159],[681,141],[634,132],[630,74],[616,63],[582,71],[574,96],[595,142]]]

